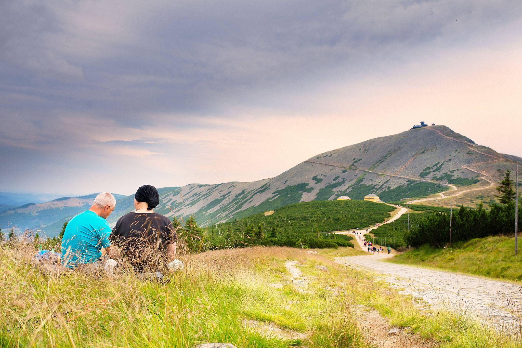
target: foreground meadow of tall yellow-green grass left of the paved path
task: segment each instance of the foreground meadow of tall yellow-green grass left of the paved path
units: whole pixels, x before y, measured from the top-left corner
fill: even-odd
[[[515,347],[519,338],[458,314],[420,310],[411,298],[343,267],[353,248],[284,247],[207,251],[181,257],[168,282],[31,265],[33,245],[0,248],[1,347],[367,347],[361,315],[377,310],[412,342],[443,347]],[[309,250],[310,251],[310,250]],[[284,266],[298,264],[292,281]],[[326,266],[322,271],[315,266]],[[301,281],[303,280],[303,281]]]

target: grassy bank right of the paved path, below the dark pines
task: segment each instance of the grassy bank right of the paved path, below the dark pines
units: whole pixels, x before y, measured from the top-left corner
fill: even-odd
[[[522,281],[522,256],[516,257],[514,250],[514,237],[491,236],[455,243],[445,249],[424,245],[397,255],[391,261]]]

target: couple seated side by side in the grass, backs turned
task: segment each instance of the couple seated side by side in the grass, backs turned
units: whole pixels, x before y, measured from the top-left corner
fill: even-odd
[[[169,218],[153,209],[159,204],[156,187],[144,185],[134,195],[133,212],[123,215],[111,232],[105,220],[116,206],[108,192],[99,194],[86,210],[69,221],[62,238],[62,264],[68,268],[101,268],[102,247],[111,258],[105,270],[112,272],[118,255],[125,257],[138,273],[162,271],[179,265],[176,232]]]

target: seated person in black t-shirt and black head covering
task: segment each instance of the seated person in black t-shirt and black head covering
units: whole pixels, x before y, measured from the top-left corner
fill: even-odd
[[[158,190],[144,185],[134,195],[133,212],[123,215],[114,226],[111,242],[137,272],[160,271],[176,256],[176,232],[169,218],[155,212]]]

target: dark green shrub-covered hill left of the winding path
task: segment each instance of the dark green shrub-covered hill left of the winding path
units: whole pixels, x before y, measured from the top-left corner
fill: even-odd
[[[325,248],[352,246],[350,236],[329,234],[365,228],[390,217],[394,208],[366,201],[312,201],[207,227],[210,248],[277,245]]]

